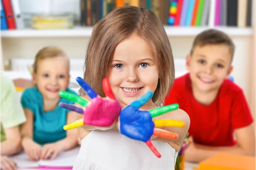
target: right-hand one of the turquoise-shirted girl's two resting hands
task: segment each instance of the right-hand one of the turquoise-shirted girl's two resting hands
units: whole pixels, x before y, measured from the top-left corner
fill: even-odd
[[[53,160],[61,152],[61,148],[58,143],[45,144],[42,148],[41,159]]]

